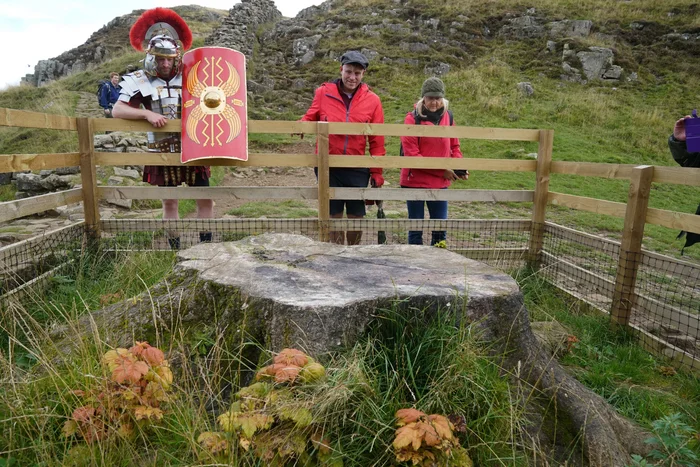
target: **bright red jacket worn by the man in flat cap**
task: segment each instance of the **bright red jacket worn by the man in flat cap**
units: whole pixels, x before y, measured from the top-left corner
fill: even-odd
[[[379,96],[370,91],[369,86],[361,83],[350,101],[350,107],[340,96],[337,82],[322,84],[316,89],[314,101],[309,110],[301,117],[305,122],[352,122],[384,123],[384,111]],[[348,154],[363,156],[369,141],[369,153],[373,156],[386,154],[383,136],[364,135],[330,135],[330,154]],[[370,169],[381,173],[381,169]]]

